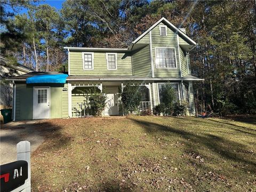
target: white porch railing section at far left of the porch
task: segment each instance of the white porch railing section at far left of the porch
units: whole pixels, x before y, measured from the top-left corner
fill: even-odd
[[[92,116],[92,109],[89,103],[82,102],[72,105],[72,117]]]

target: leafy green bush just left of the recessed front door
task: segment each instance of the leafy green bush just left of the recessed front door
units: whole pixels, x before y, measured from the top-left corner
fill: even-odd
[[[90,95],[89,103],[93,113],[96,116],[102,115],[102,111],[105,109],[105,106],[106,106],[106,100],[107,100],[107,95],[103,92],[98,93],[94,91],[94,93]]]

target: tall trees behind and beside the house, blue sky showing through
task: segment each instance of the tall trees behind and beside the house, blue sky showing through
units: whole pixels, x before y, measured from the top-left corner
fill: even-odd
[[[125,48],[162,17],[198,43],[190,52],[191,75],[205,79],[194,84],[198,113],[255,113],[255,1],[66,1],[56,10],[2,0],[1,54],[36,71],[67,69],[63,46]]]

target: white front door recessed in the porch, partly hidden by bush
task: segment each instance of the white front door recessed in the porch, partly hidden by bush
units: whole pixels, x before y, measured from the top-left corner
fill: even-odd
[[[107,101],[104,110],[105,116],[119,115],[118,111],[118,87],[106,87]]]

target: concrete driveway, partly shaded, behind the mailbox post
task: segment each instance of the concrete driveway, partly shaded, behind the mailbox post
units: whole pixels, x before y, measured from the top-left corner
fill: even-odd
[[[20,141],[29,141],[31,153],[44,142],[38,127],[41,121],[10,122],[1,125],[0,130],[0,164],[16,161],[16,145]]]

